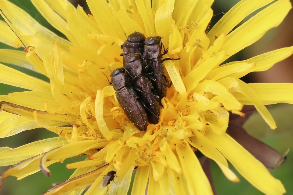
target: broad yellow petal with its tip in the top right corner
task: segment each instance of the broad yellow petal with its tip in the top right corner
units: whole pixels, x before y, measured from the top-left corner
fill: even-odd
[[[227,52],[225,59],[259,40],[269,29],[277,27],[291,8],[289,0],[277,1],[233,30],[221,48]]]

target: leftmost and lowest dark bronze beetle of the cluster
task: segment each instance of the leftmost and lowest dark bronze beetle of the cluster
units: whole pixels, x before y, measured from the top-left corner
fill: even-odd
[[[130,87],[124,68],[117,68],[110,74],[116,91],[116,98],[129,120],[139,131],[147,130],[147,113],[139,102],[136,92]]]

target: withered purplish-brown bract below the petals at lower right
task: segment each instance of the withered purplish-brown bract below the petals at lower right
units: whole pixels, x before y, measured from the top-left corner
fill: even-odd
[[[243,127],[236,124],[229,124],[227,133],[269,169],[277,168],[284,162],[288,153],[287,151],[281,155],[275,149],[251,137]]]

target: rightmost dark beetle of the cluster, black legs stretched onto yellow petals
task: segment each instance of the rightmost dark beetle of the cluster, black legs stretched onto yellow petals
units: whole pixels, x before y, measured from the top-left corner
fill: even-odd
[[[164,47],[161,37],[148,37],[144,43],[143,57],[147,63],[145,72],[151,74],[148,77],[151,80],[159,99],[162,99],[166,96],[166,87],[170,87],[168,79],[165,76],[162,60],[162,55],[166,54],[168,50],[165,50],[164,48],[164,53],[161,53],[162,47]],[[172,58],[166,58],[166,60],[169,59]]]

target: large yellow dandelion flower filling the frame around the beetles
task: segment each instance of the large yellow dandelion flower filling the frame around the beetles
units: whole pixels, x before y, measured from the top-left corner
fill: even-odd
[[[87,0],[91,14],[66,0],[31,2],[67,39],[0,0],[0,13],[8,24],[0,21],[0,41],[24,47],[24,52],[1,50],[2,61],[50,80],[0,64],[0,82],[27,89],[0,96],[0,137],[43,127],[56,133],[56,138],[0,148],[0,165],[14,165],[2,173],[0,188],[8,176],[22,179],[40,170],[49,176],[47,166],[85,154],[84,161],[67,164],[68,169],[76,169],[70,179],[44,194],[81,194],[87,186],[86,195],[127,194],[134,169],[132,194],[213,194],[204,164],[195,155],[200,151],[233,182],[239,179],[227,160],[261,192],[285,193],[282,183],[266,169],[266,162],[252,149],[245,149],[246,142],[233,133],[233,125],[245,116],[243,105],[253,105],[269,127],[276,128],[264,105],[292,104],[293,84],[246,84],[240,78],[269,69],[289,57],[293,47],[223,62],[278,26],[291,9],[289,0],[242,0],[208,33],[213,16],[210,0]],[[173,85],[162,99],[159,123],[148,125],[145,132],[125,116],[105,77],[110,75],[109,68],[123,66],[120,45],[135,31],[164,37],[163,44],[169,48],[166,56],[181,57],[164,62]],[[235,126],[239,129],[241,122]],[[272,159],[275,167],[283,161],[279,153]],[[108,188],[101,190],[110,171],[116,172],[115,183],[106,181]]]

